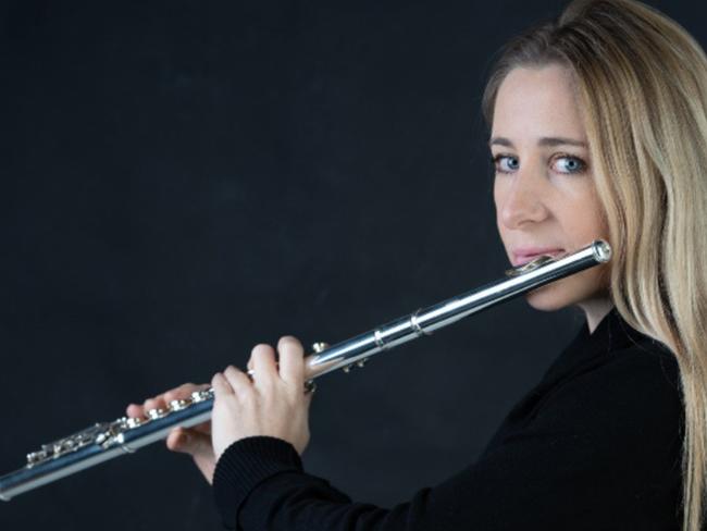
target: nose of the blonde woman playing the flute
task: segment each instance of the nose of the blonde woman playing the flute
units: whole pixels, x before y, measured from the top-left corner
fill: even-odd
[[[505,177],[503,177],[505,178]],[[519,171],[500,186],[500,221],[507,229],[521,229],[528,223],[547,219],[544,178],[530,171]]]

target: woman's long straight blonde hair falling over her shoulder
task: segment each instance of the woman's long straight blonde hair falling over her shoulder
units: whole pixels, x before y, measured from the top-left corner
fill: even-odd
[[[702,527],[707,470],[707,57],[678,23],[634,0],[575,0],[503,50],[483,98],[517,66],[573,72],[623,319],[680,367],[683,531]]]

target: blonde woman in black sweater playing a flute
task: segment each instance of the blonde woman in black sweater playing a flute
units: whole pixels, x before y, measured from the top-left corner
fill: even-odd
[[[513,264],[597,237],[615,258],[532,292],[587,326],[476,462],[412,501],[356,504],[303,472],[302,347],[213,376],[212,432],[175,430],[244,530],[678,529],[702,524],[707,353],[707,58],[632,0],[574,1],[509,42],[484,94],[497,224]],[[188,395],[186,384],[128,415]]]

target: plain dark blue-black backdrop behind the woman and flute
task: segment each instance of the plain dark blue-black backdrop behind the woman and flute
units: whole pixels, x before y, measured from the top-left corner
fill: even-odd
[[[704,8],[650,2],[700,40]],[[132,400],[501,276],[492,57],[562,1],[2,4],[0,473]],[[307,469],[393,505],[473,461],[582,325],[513,301],[319,381]],[[219,529],[141,449],[3,530]]]

